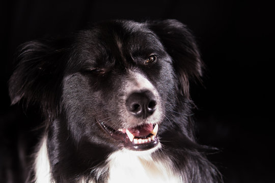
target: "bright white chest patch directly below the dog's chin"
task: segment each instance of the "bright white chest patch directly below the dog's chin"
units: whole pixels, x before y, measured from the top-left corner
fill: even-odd
[[[114,153],[109,157],[108,183],[181,182],[168,160],[154,161],[150,155]]]

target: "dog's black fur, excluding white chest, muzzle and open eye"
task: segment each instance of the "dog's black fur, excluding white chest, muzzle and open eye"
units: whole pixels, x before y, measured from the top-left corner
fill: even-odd
[[[119,46],[120,45],[120,46]],[[157,62],[144,60],[157,54]],[[203,63],[191,33],[176,20],[107,21],[66,39],[25,43],[9,81],[12,104],[38,104],[45,118],[45,134],[52,177],[56,182],[94,178],[106,157],[120,144],[102,134],[95,118],[119,127],[121,81],[127,69],[137,70],[160,94],[164,115],[159,126],[162,151],[188,182],[218,182],[206,147],[194,138],[189,82],[200,80]],[[102,175],[98,182],[102,182]]]

